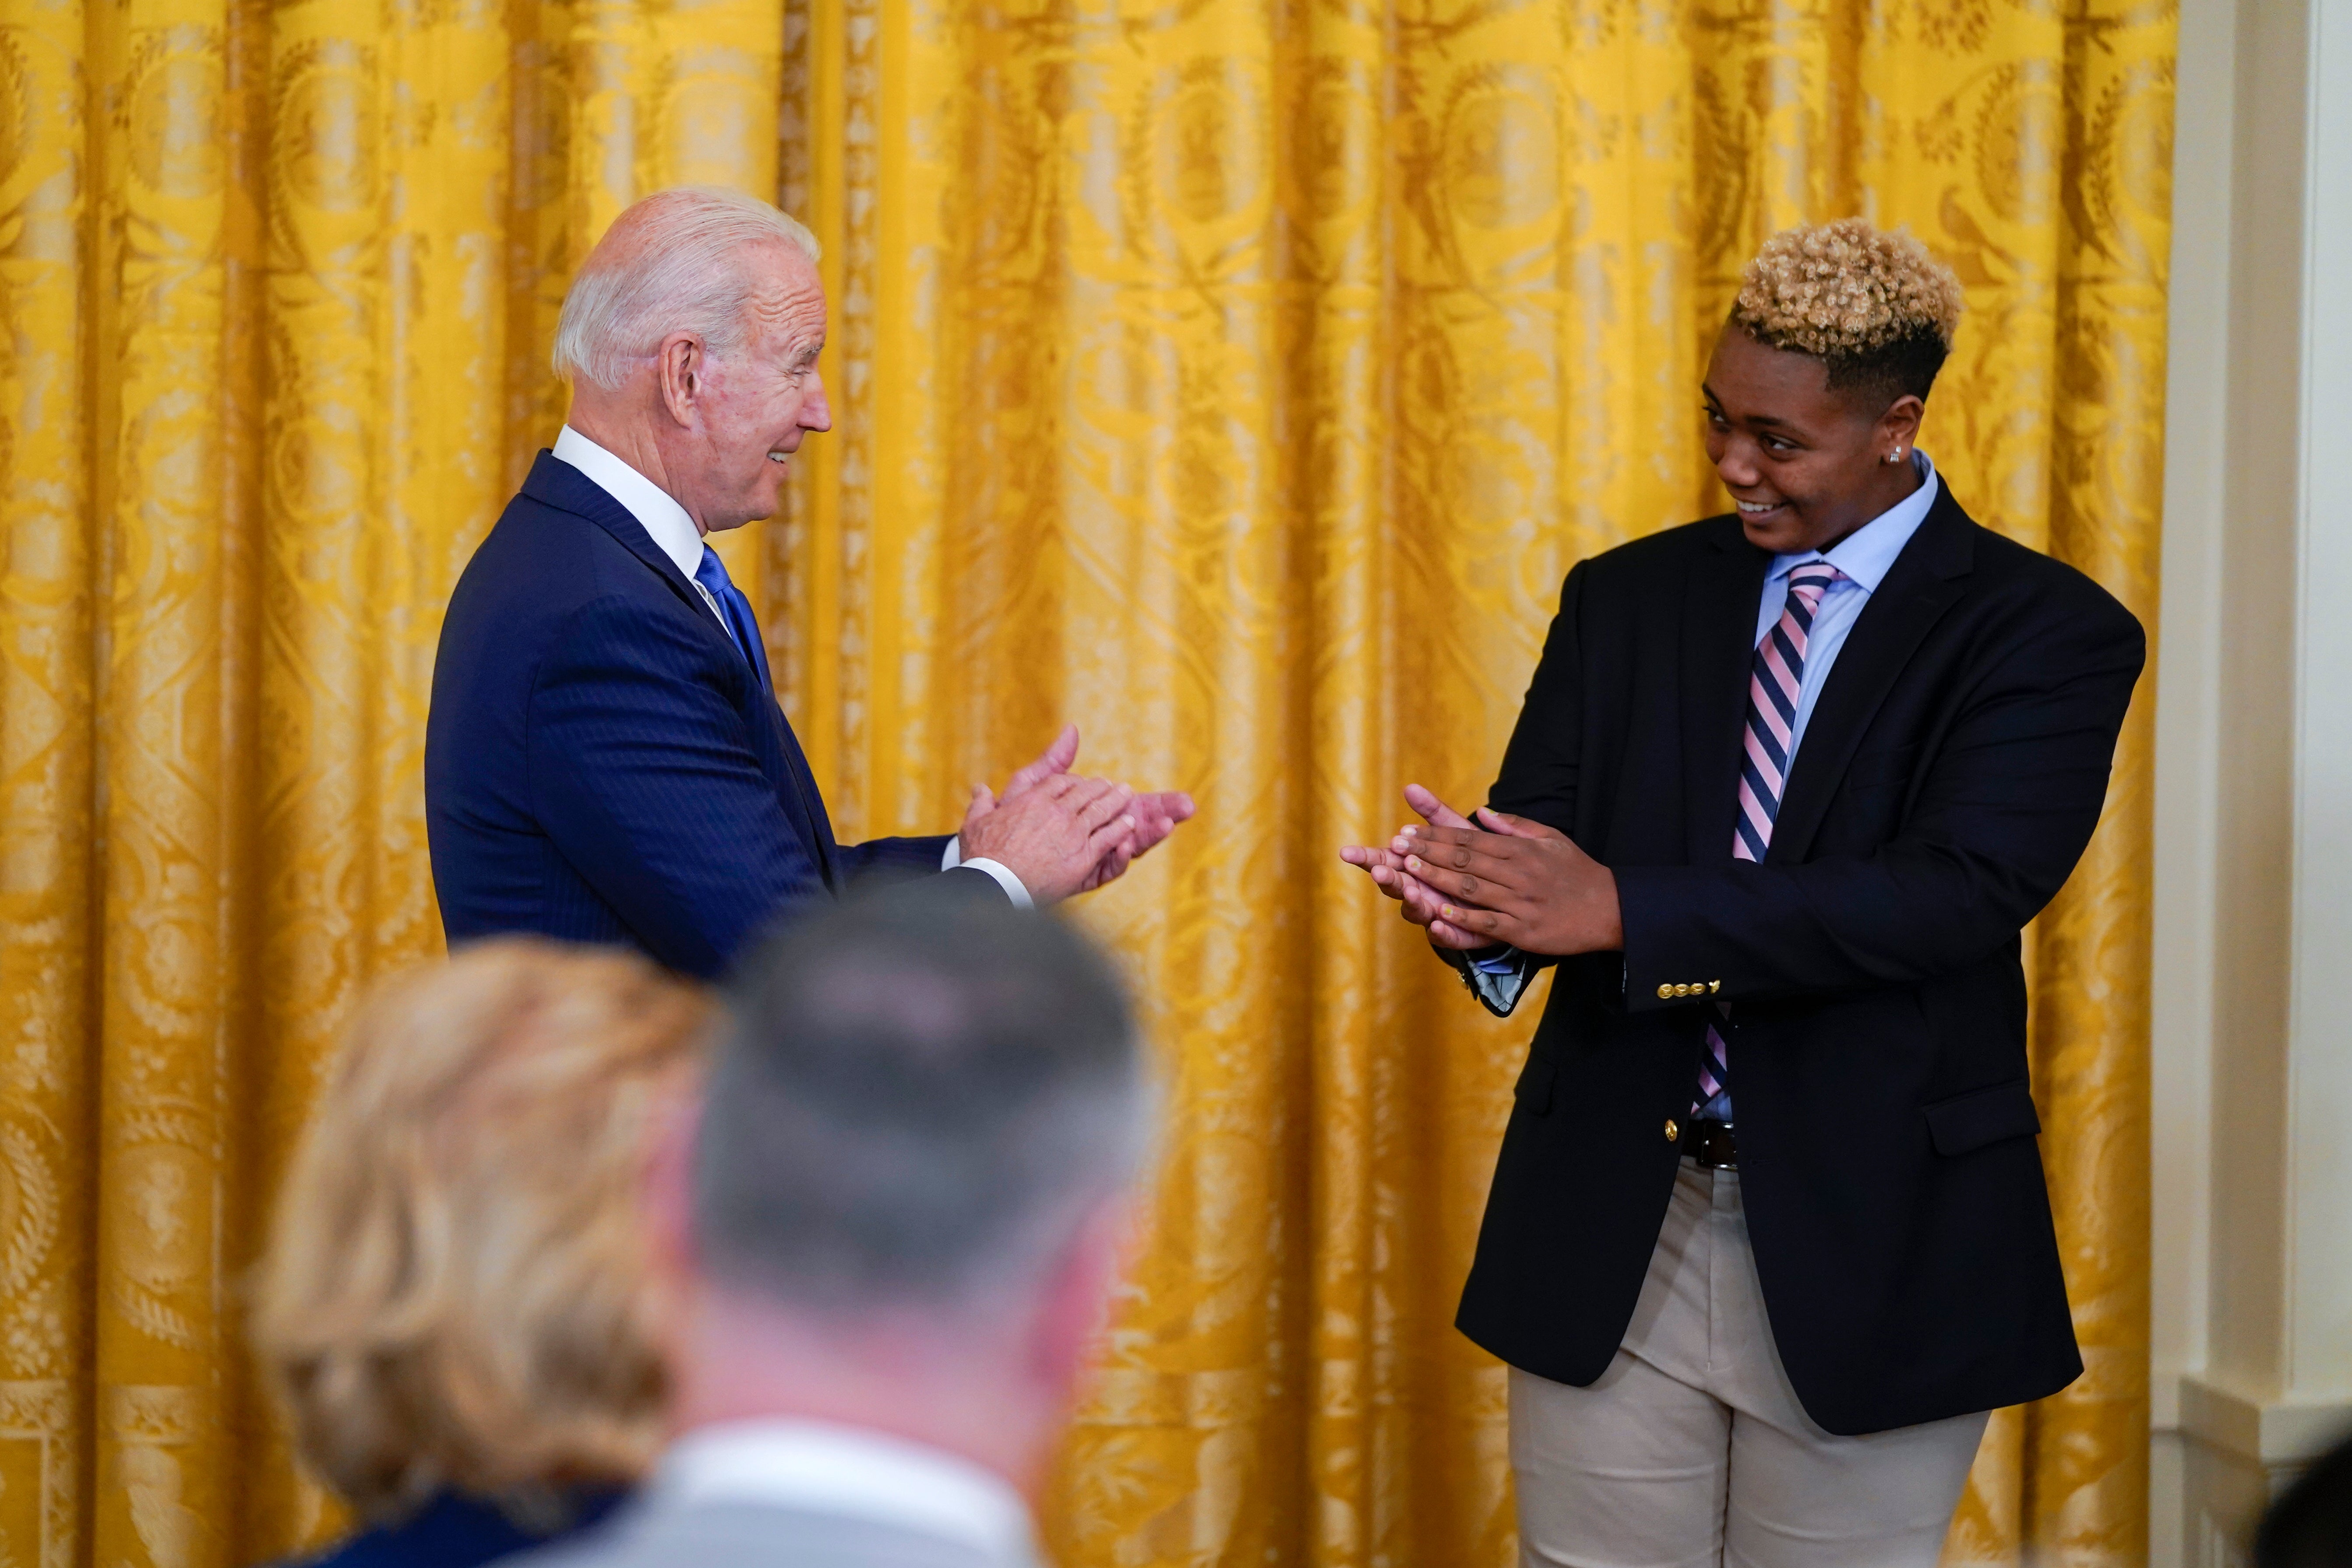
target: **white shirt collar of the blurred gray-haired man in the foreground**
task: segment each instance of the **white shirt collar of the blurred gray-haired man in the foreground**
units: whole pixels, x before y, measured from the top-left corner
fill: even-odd
[[[1035,1561],[1028,1505],[1004,1476],[863,1427],[781,1418],[699,1427],[670,1443],[652,1493],[849,1514],[976,1547],[1007,1568]]]

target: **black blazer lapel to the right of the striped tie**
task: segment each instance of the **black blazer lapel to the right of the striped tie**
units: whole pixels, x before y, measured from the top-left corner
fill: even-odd
[[[1919,522],[1919,531],[1886,569],[1886,581],[1846,632],[1846,644],[1830,665],[1830,679],[1813,701],[1804,743],[1788,776],[1788,795],[1773,820],[1766,860],[1802,860],[1820,832],[1820,818],[1837,795],[1837,783],[1853,762],[1853,748],[1893,689],[1903,665],[1919,651],[1943,611],[1966,590],[1976,562],[1969,515],[1943,489]]]

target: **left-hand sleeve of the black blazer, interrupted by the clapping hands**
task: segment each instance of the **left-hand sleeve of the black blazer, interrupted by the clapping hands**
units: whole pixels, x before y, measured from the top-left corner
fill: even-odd
[[[1576,766],[1583,757],[1583,588],[1585,564],[1576,562],[1559,585],[1559,614],[1543,637],[1543,656],[1503,750],[1503,771],[1486,792],[1486,804],[1496,811],[1526,816],[1559,832],[1569,832],[1576,820]],[[1496,1018],[1510,1018],[1536,976],[1559,961],[1508,943],[1477,952],[1439,947],[1437,957],[1461,973],[1470,994]]]

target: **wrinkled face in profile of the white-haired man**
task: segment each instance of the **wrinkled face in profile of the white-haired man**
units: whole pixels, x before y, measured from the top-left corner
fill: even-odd
[[[694,510],[703,527],[739,529],[781,505],[790,454],[833,428],[816,353],[826,346],[826,287],[790,244],[746,256],[755,277],[743,343],[701,364],[701,444]]]

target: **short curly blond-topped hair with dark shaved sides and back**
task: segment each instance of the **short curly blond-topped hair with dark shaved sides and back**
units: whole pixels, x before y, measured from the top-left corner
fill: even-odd
[[[1952,353],[1959,277],[1900,228],[1785,228],[1740,270],[1731,320],[1766,348],[1828,364],[1832,390],[1926,397]]]

